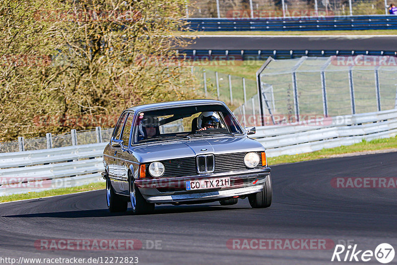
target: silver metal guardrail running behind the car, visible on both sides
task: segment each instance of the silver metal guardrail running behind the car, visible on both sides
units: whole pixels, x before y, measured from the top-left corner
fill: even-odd
[[[265,146],[269,157],[392,137],[397,134],[397,110],[326,118],[323,123],[262,126],[252,137]],[[103,181],[101,157],[106,144],[0,154],[0,196]]]

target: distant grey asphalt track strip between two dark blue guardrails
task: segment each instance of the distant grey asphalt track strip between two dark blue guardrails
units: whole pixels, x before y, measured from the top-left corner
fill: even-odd
[[[397,36],[199,36],[196,50],[397,51]]]

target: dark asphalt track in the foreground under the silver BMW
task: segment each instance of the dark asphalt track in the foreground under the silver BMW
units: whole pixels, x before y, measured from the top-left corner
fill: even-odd
[[[335,189],[335,177],[396,177],[397,152],[272,167],[273,203],[156,206],[154,214],[111,214],[105,191],[0,204],[0,257],[138,257],[138,264],[331,263],[333,250],[231,250],[234,238],[353,240],[361,250],[397,250],[397,189]],[[161,249],[41,251],[39,239],[161,240]],[[397,256],[390,264],[397,263]],[[345,263],[343,263],[345,264]],[[362,264],[362,263],[359,263]],[[365,264],[380,264],[375,258]]]

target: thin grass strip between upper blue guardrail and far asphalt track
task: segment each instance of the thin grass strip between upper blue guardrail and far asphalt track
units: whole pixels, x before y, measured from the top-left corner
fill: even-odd
[[[178,31],[173,35],[396,35],[397,30],[320,30],[320,31]]]

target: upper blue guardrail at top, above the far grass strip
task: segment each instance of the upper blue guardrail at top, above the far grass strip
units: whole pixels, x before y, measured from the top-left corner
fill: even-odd
[[[198,31],[305,31],[397,29],[397,15],[358,15],[288,18],[189,18]]]

